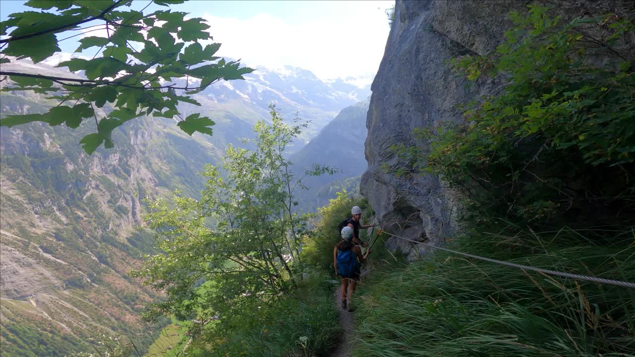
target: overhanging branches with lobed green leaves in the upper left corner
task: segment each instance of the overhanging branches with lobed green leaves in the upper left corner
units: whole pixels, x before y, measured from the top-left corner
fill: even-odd
[[[170,6],[183,1],[154,3]],[[209,25],[203,18],[186,20],[187,13],[171,10],[143,13],[143,10],[131,10],[133,1],[130,0],[46,0],[25,4],[54,12],[23,11],[13,13],[8,20],[0,22],[0,33],[10,36],[0,39],[3,63],[11,62],[11,58],[6,56],[31,58],[34,63],[46,60],[60,51],[58,41],[74,37],[58,40],[70,30],[100,26],[107,30],[108,38],[89,36],[80,39],[76,52],[91,50],[95,56],[90,60],[72,58],[57,66],[69,67],[71,72],[83,71],[86,79],[70,75],[58,77],[0,71],[0,74],[10,76],[14,82],[13,86],[5,86],[3,91],[52,93],[52,98],[61,101],[44,114],[6,116],[0,125],[15,126],[42,121],[51,126],[65,123],[69,128],[77,128],[83,119],[94,117],[97,132],[81,140],[84,150],[89,154],[101,145],[113,147],[112,130],[118,126],[150,114],[178,117],[178,127],[189,135],[195,131],[211,135],[209,126],[214,124],[211,119],[199,118],[199,114],[183,119],[179,115],[178,104],[187,102],[199,105],[189,97],[190,94],[198,93],[222,79],[243,79],[243,74],[253,71],[239,67],[239,62],[226,62],[223,58],[214,57],[220,48],[219,43],[211,43],[203,48],[199,41],[211,39],[210,33],[206,31]],[[91,26],[81,27],[83,24]],[[175,37],[182,41],[177,43]],[[189,77],[199,79],[201,83],[190,86]],[[185,94],[178,95],[177,90]],[[98,118],[95,106],[101,108],[107,103],[116,110]]]

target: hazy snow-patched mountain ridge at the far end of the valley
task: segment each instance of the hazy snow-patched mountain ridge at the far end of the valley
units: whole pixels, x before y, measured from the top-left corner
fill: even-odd
[[[82,58],[80,55],[56,53],[36,67],[55,71],[59,76],[61,72],[67,72],[66,68],[51,66],[72,57]],[[33,66],[28,60],[20,60],[13,65]],[[246,74],[244,81],[220,81],[194,95],[203,104],[201,107],[181,105],[180,109],[186,115],[202,112],[216,121],[217,126],[213,130],[224,133],[224,136],[212,138],[214,144],[239,144],[244,137],[250,137],[251,126],[258,120],[269,118],[269,105],[273,103],[289,122],[296,115],[311,121],[302,136],[290,147],[290,151],[298,151],[318,135],[339,111],[368,98],[373,79],[373,76],[361,76],[323,81],[307,69],[290,65],[278,69],[263,66],[253,68],[255,71]],[[185,79],[174,81],[184,82]],[[198,79],[190,79],[191,85],[197,83],[200,83]]]

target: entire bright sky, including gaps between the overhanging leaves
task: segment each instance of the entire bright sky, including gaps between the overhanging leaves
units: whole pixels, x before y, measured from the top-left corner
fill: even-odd
[[[148,2],[135,1],[140,7]],[[0,18],[32,10],[23,3],[0,1]],[[390,30],[385,10],[392,4],[391,0],[193,0],[173,9],[206,18],[214,41],[222,43],[218,52],[222,56],[242,58],[251,66],[293,65],[327,79],[377,71]],[[77,43],[67,40],[60,47],[72,52]]]

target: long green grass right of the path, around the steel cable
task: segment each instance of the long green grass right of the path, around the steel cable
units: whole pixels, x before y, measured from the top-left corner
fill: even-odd
[[[634,232],[608,246],[588,233],[472,234],[454,248],[635,281]],[[360,292],[353,356],[635,356],[632,288],[438,253],[377,269]]]

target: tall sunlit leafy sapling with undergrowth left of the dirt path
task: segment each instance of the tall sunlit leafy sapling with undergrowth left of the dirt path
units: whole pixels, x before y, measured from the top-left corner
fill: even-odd
[[[131,274],[166,299],[144,316],[178,320],[180,351],[190,355],[283,356],[300,351],[305,337],[309,356],[337,330],[332,288],[320,287],[322,277],[298,286],[306,222],[294,209],[304,177],[333,169],[315,165],[295,176],[283,153],[306,124],[285,124],[274,105],[270,114],[271,124],[255,125],[253,151],[230,145],[222,167],[204,168],[199,199],[175,192],[169,202],[151,201],[145,215],[159,232],[157,252]]]

